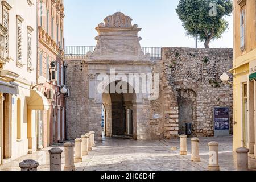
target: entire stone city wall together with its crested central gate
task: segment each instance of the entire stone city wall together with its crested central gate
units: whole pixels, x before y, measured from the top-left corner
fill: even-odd
[[[191,137],[213,136],[215,107],[229,108],[230,122],[225,123],[228,135],[233,134],[233,89],[220,81],[220,75],[232,68],[232,49],[164,47],[162,56],[150,55],[150,49],[140,46],[141,28],[119,12],[106,17],[96,30],[95,49],[65,50],[68,139],[91,130],[97,139],[177,139],[186,133],[187,123],[192,124]],[[85,49],[86,55],[79,52]],[[104,75],[109,80],[102,85]],[[135,77],[130,80],[130,75]],[[151,84],[143,87],[143,79]],[[127,90],[110,92],[111,85]],[[148,86],[154,92],[142,91]],[[102,87],[109,92],[100,92]]]

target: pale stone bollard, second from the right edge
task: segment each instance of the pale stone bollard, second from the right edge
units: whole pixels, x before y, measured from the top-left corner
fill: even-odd
[[[220,171],[220,166],[218,165],[218,142],[210,142],[209,146],[209,171]]]

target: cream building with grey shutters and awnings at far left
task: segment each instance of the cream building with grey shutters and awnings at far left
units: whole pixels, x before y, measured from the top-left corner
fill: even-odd
[[[36,80],[35,1],[1,1],[0,164],[36,150],[36,110],[48,109]]]

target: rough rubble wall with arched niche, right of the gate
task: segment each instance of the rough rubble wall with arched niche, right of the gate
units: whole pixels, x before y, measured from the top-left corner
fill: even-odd
[[[232,49],[162,48],[162,86],[164,97],[168,98],[164,105],[165,138],[177,137],[179,105],[188,100],[192,104],[192,121],[188,122],[192,122],[193,135],[214,135],[214,106],[230,107],[233,134],[233,88],[220,80],[222,73],[232,69],[232,61]]]

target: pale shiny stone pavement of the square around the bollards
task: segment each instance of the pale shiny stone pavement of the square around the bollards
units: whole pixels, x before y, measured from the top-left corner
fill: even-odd
[[[232,137],[200,138],[201,162],[191,162],[191,142],[188,139],[188,155],[179,155],[179,140],[137,141],[106,138],[97,142],[93,151],[83,157],[83,162],[75,163],[77,171],[205,171],[208,167],[207,143],[216,141],[219,146],[219,163],[222,171],[236,170],[236,154],[232,152]],[[52,146],[56,147],[56,146]],[[57,146],[64,150],[63,146]],[[171,150],[177,147],[177,150]],[[49,147],[51,148],[51,147]],[[0,170],[20,170],[19,162],[34,159],[39,162],[38,170],[49,170],[49,154],[46,148],[35,154],[23,156],[0,166]],[[64,167],[64,152],[62,154]],[[256,160],[249,159],[249,167],[256,168]]]

